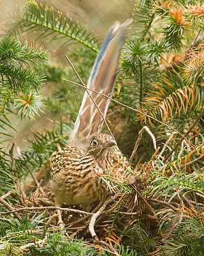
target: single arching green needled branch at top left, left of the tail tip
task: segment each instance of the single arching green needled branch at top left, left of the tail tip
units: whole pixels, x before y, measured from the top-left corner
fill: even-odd
[[[74,40],[92,51],[98,52],[97,41],[87,29],[81,28],[77,22],[74,22],[62,12],[54,10],[53,7],[43,6],[36,1],[28,1],[27,11],[20,22],[21,31],[40,31],[39,38],[52,35],[52,40],[64,38],[64,44]],[[69,38],[69,39],[68,39]]]

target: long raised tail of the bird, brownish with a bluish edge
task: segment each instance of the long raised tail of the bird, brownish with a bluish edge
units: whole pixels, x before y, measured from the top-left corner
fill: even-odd
[[[126,22],[122,24],[115,22],[115,24],[108,30],[101,51],[94,62],[87,88],[112,97],[117,68],[119,66],[120,50],[124,44],[126,29],[131,22],[131,19],[126,20]],[[110,104],[110,99],[91,91],[89,91],[89,93],[105,117]],[[95,104],[92,102],[91,97],[85,92],[75,122],[75,127],[68,144],[82,148],[86,147],[86,138],[89,138],[96,132],[101,132],[102,127],[103,118]]]

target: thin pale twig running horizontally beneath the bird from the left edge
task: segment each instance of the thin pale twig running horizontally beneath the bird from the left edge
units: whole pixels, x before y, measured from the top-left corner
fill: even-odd
[[[1,198],[0,198],[0,202],[1,202]],[[4,201],[6,202],[6,201]],[[8,204],[8,203],[6,203]],[[55,207],[55,206],[43,206],[43,207],[22,207],[22,208],[19,208],[19,209],[10,209],[11,211],[8,211],[8,212],[0,212],[0,214],[11,214],[11,213],[14,213],[14,212],[21,212],[21,211],[38,211],[38,210],[42,210],[42,211],[45,211],[45,210],[61,210],[61,211],[68,211],[68,212],[76,212],[78,214],[87,214],[87,215],[93,215],[93,213],[91,212],[85,212],[85,211],[80,211],[80,210],[77,210],[77,209],[71,209],[71,208],[62,208],[62,207]]]

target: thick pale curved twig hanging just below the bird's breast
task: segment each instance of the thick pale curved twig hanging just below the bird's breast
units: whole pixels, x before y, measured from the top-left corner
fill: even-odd
[[[108,200],[105,201],[105,203],[101,206],[101,208],[98,210],[98,212],[94,213],[91,217],[91,221],[89,223],[89,232],[91,236],[98,241],[98,237],[96,236],[96,232],[94,230],[94,225],[96,223],[97,218],[101,215],[101,213],[105,210],[106,205],[110,204],[110,202],[113,202],[118,195],[111,196]]]

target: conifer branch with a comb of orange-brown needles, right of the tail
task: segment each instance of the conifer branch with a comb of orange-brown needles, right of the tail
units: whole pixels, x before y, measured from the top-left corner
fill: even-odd
[[[184,69],[186,72],[186,69]],[[172,121],[181,113],[198,111],[203,104],[203,86],[192,84],[184,79],[183,70],[164,70],[159,79],[152,83],[152,90],[146,93],[142,103],[142,111],[150,116],[160,118],[164,122]],[[138,119],[152,124],[150,118],[138,113]]]

